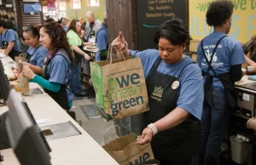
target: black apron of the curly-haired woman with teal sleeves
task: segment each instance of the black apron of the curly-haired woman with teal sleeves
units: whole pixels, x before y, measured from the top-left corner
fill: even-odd
[[[55,56],[57,55],[61,55],[61,54],[55,54]],[[64,56],[64,55],[61,55],[64,60],[66,60],[67,62],[67,65],[69,65],[68,61],[67,61],[67,58]],[[55,57],[54,57],[55,58]],[[49,62],[52,60],[53,58],[48,58],[46,57],[46,60],[44,61],[44,65],[43,65],[43,78],[46,79],[46,80],[49,80],[49,75],[47,74],[47,66],[49,65]],[[68,69],[69,71],[69,69]],[[56,103],[58,103],[61,108],[63,108],[64,110],[69,110],[69,107],[68,107],[68,98],[67,98],[67,84],[63,85],[61,84],[61,88],[60,88],[60,91],[58,93],[55,93],[55,92],[52,92],[50,90],[48,90],[47,88],[44,88],[44,92],[49,94],[49,96],[55,100]]]

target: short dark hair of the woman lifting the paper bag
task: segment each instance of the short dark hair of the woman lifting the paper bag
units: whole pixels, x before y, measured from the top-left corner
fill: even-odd
[[[158,44],[161,37],[166,38],[173,45],[189,45],[192,39],[189,36],[189,28],[180,19],[167,20],[161,24],[154,36],[154,43]]]

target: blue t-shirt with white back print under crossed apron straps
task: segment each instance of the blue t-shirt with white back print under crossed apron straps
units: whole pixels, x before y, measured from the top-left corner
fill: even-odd
[[[222,32],[212,32],[203,40],[203,48],[207,55],[207,59],[210,61],[212,56],[212,51],[218,42],[218,39],[225,36],[226,34]],[[197,48],[197,63],[201,66],[201,71],[207,72],[207,61],[205,60],[201,51],[201,42],[198,44]],[[245,63],[244,53],[241,47],[241,43],[236,41],[232,37],[224,37],[224,39],[218,44],[218,48],[212,59],[212,68],[216,74],[230,72],[231,65],[240,65]],[[214,76],[214,73],[210,70],[210,75]],[[218,78],[213,78],[212,83],[213,88],[223,88],[223,84],[218,80]]]

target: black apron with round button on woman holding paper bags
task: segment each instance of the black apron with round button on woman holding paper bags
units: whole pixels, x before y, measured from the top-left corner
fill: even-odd
[[[177,107],[178,93],[177,89],[172,89],[172,83],[179,81],[187,66],[181,69],[178,77],[172,77],[156,71],[161,61],[160,58],[146,79],[150,109],[145,112],[147,125],[166,117]],[[151,140],[155,158],[165,162],[182,161],[195,156],[201,151],[201,145],[199,122],[190,117],[174,128],[155,134]]]

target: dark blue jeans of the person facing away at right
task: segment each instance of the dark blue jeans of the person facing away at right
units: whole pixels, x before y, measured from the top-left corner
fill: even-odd
[[[212,109],[204,107],[201,117],[203,152],[197,156],[196,165],[219,165],[220,145],[228,125],[230,110],[224,89],[213,88]]]

